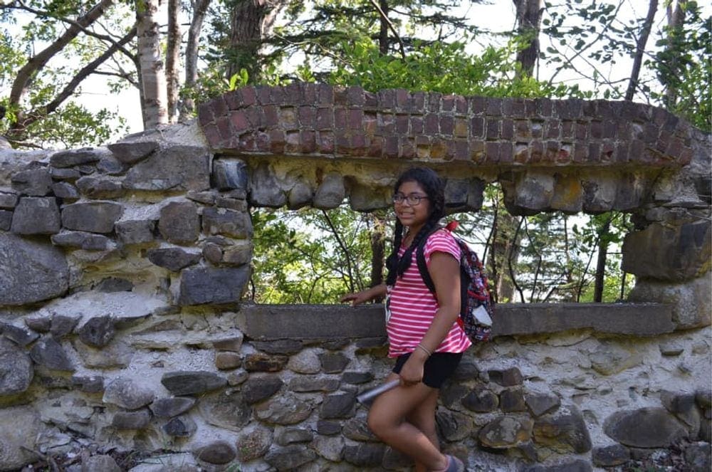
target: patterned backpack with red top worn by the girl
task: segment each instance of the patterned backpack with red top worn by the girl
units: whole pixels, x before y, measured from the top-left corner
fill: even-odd
[[[456,226],[457,221],[451,221],[445,229],[451,232]],[[452,236],[462,254],[460,258],[460,315],[457,318],[457,324],[473,343],[485,342],[489,340],[492,332],[494,313],[494,300],[487,276],[477,253],[461,238],[454,234]],[[424,241],[419,244],[416,261],[423,282],[435,295],[435,284],[425,263],[426,241],[427,238],[424,238]]]

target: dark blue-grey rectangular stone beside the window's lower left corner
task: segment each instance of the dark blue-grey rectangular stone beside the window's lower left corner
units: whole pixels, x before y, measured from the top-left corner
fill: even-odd
[[[178,303],[238,303],[250,276],[249,266],[237,268],[201,268],[183,271]]]

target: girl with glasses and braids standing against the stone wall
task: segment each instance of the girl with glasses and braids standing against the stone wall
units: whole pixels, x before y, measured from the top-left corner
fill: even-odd
[[[386,380],[399,378],[400,384],[375,399],[368,426],[384,443],[411,456],[417,472],[461,472],[459,458],[440,452],[435,428],[439,389],[471,345],[456,324],[460,249],[449,232],[438,229],[445,216],[444,184],[431,169],[409,169],[395,184],[393,204],[397,220],[386,283],[341,299],[358,305],[386,297],[388,355],[396,358]],[[424,240],[437,295],[418,271],[416,248]]]

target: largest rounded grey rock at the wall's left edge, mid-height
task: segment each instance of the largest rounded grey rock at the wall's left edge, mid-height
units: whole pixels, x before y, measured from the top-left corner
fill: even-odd
[[[25,305],[66,293],[69,268],[50,244],[0,233],[0,305]]]

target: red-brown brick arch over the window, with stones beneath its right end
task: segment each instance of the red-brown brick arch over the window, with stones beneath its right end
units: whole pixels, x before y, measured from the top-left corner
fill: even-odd
[[[199,107],[199,125],[216,154],[253,167],[274,159],[417,162],[446,176],[499,181],[514,214],[637,209],[661,175],[696,152],[689,123],[639,103],[311,83],[226,93]]]

